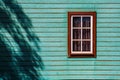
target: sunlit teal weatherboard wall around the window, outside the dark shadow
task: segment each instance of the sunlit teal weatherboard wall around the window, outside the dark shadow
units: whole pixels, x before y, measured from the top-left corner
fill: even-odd
[[[48,80],[120,79],[120,0],[18,0],[41,40]],[[67,12],[96,11],[97,57],[68,58]]]

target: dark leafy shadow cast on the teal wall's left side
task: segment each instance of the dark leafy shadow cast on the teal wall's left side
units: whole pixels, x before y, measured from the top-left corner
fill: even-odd
[[[39,38],[16,0],[0,0],[0,78],[41,80]]]

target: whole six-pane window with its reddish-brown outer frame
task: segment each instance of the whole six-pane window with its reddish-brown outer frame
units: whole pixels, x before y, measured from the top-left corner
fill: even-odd
[[[96,12],[68,12],[68,56],[96,57]]]

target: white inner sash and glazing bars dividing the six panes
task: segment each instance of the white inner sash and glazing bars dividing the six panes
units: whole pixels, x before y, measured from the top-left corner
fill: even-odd
[[[80,27],[79,27],[79,26],[74,26],[74,24],[73,24],[73,20],[74,20],[74,19],[73,19],[73,18],[75,18],[75,17],[80,17],[80,18],[81,18],[81,21],[80,21],[81,26],[80,26]],[[90,18],[90,24],[92,24],[92,17],[91,17],[91,16],[84,16],[84,15],[81,15],[81,16],[72,16],[72,20],[71,20],[71,21],[72,21],[72,22],[71,22],[71,25],[72,25],[72,44],[73,44],[75,41],[77,41],[78,43],[79,43],[79,42],[81,43],[81,45],[80,45],[81,49],[78,50],[78,51],[77,51],[77,50],[74,51],[74,50],[73,50],[73,46],[71,46],[71,50],[72,50],[73,53],[76,53],[76,52],[77,52],[77,53],[79,53],[79,52],[81,52],[81,53],[86,53],[86,52],[89,53],[89,52],[92,51],[92,44],[91,44],[91,43],[92,43],[92,40],[91,40],[92,36],[91,36],[91,35],[89,36],[90,39],[87,39],[87,38],[83,39],[83,30],[90,30],[90,32],[92,31],[92,30],[91,30],[91,27],[92,27],[91,25],[89,25],[89,24],[87,24],[87,26],[84,26],[84,25],[83,25],[83,18],[85,18],[85,17],[89,17],[89,18]],[[86,23],[85,23],[85,25],[86,25]],[[88,26],[88,25],[89,25],[89,26]],[[81,36],[80,36],[81,38],[80,38],[80,39],[74,39],[74,37],[73,37],[73,35],[74,35],[74,34],[73,34],[73,33],[74,33],[74,30],[81,30],[81,32],[80,32],[80,33],[81,33]],[[89,34],[91,34],[90,32],[89,32]],[[86,46],[86,47],[87,47],[87,48],[86,48],[86,51],[83,51],[83,42],[84,42],[84,43],[87,43],[88,41],[90,42],[90,44],[89,44],[89,45],[90,45],[90,46],[89,46],[89,47],[90,47],[90,50],[88,51],[88,48],[89,48],[89,47]],[[86,44],[85,44],[85,45],[86,45]]]

